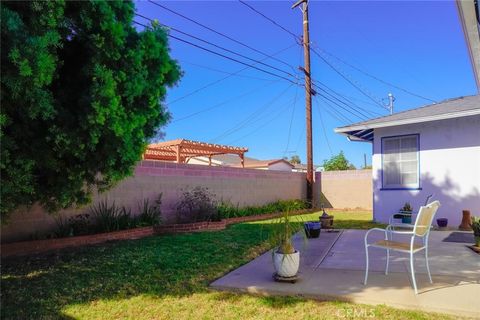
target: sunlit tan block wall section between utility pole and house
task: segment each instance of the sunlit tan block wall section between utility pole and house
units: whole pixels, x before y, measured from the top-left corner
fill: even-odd
[[[326,208],[373,208],[372,170],[325,171],[316,183]]]

